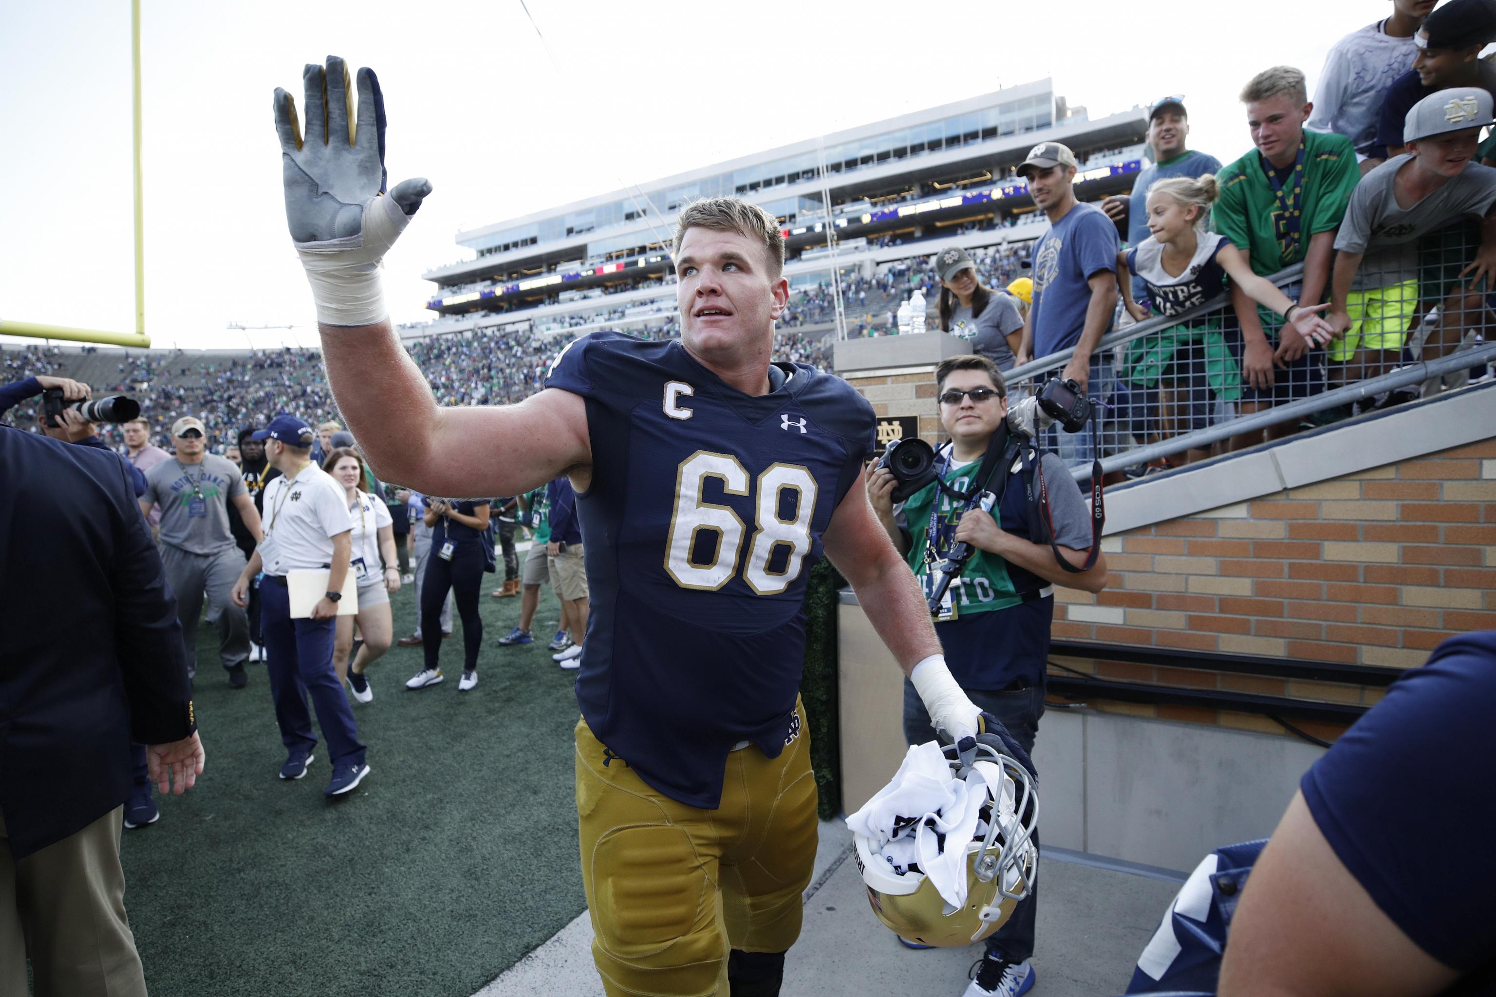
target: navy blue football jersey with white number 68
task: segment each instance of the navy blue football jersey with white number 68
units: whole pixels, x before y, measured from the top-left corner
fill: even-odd
[[[577,495],[591,589],[577,703],[651,786],[721,801],[727,753],[799,735],[805,586],[821,534],[872,453],[847,381],[778,365],[744,395],[678,341],[595,332],[546,387],[586,399],[592,483]]]

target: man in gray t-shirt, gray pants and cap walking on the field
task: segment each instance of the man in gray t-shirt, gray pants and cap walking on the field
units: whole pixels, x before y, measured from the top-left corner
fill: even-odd
[[[230,592],[244,570],[244,552],[229,529],[229,502],[244,526],[260,538],[260,514],[230,460],[206,453],[202,422],[183,416],[172,425],[177,454],[145,475],[141,511],[160,507],[162,564],[177,593],[177,616],[183,625],[190,671],[197,671],[197,617],[208,595],[208,622],[218,628],[218,655],[229,671],[229,686],[248,682],[244,662],[250,656],[250,623]]]

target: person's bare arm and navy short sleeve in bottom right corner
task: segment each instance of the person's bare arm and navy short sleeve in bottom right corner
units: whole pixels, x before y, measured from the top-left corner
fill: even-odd
[[[1496,993],[1496,631],[1451,637],[1305,773],[1242,891],[1230,994]]]

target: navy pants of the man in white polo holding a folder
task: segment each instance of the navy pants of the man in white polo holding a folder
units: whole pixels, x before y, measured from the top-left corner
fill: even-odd
[[[307,753],[317,746],[311,713],[307,712],[307,694],[311,692],[332,764],[362,765],[367,749],[359,743],[349,694],[332,668],[334,620],[293,620],[290,593],[269,575],[260,584],[260,602],[265,671],[271,680],[281,743],[292,753]]]

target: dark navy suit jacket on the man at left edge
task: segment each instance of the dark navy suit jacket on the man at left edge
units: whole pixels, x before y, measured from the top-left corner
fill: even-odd
[[[0,429],[0,812],[19,859],[193,732],[177,598],[115,453]]]

